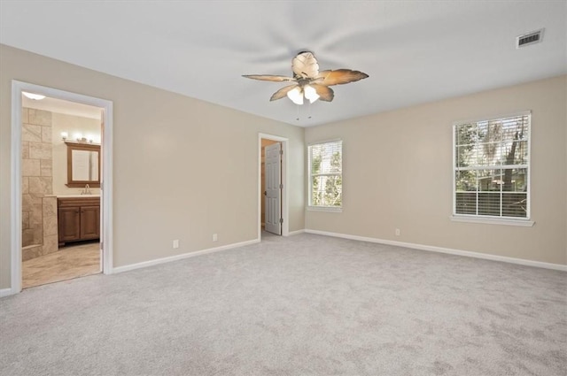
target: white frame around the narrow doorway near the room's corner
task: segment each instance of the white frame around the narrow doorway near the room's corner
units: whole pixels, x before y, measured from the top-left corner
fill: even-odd
[[[261,192],[261,183],[262,183],[262,139],[272,140],[276,142],[282,142],[282,150],[283,150],[283,157],[282,157],[282,236],[288,236],[290,234],[290,208],[288,204],[288,186],[289,186],[289,179],[287,173],[287,165],[288,165],[288,142],[289,139],[285,137],[281,137],[274,134],[258,134],[258,239],[261,240],[261,232],[262,232],[262,213],[261,213],[261,200],[263,199],[264,195]]]

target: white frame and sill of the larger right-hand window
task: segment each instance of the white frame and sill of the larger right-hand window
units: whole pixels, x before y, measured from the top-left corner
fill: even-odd
[[[527,121],[527,137],[526,137],[526,143],[527,143],[527,163],[523,164],[523,165],[509,165],[508,168],[506,169],[514,169],[514,168],[525,168],[526,169],[526,189],[525,189],[525,194],[526,194],[526,199],[527,199],[527,204],[526,204],[526,216],[525,217],[510,217],[510,216],[493,216],[493,215],[484,215],[484,214],[462,214],[462,213],[457,213],[457,207],[456,207],[456,196],[457,196],[457,187],[456,187],[456,174],[458,171],[462,171],[462,170],[458,170],[458,166],[457,166],[457,160],[456,160],[456,153],[457,153],[457,140],[456,140],[456,129],[459,126],[464,126],[467,124],[478,124],[478,123],[482,123],[482,122],[491,122],[491,121],[495,121],[495,120],[501,120],[501,119],[509,119],[509,118],[519,118],[519,117],[524,117],[527,116],[528,121]],[[509,225],[509,226],[533,226],[534,222],[532,221],[531,218],[531,205],[532,205],[532,111],[519,111],[519,112],[515,112],[515,113],[511,113],[511,114],[505,114],[505,115],[498,115],[498,116],[491,116],[491,117],[485,117],[482,119],[473,119],[473,120],[462,120],[462,121],[455,121],[451,127],[452,130],[452,183],[453,183],[453,187],[452,187],[452,201],[453,201],[453,205],[452,205],[452,214],[451,214],[451,220],[456,221],[456,222],[472,222],[472,223],[485,223],[485,224],[492,224],[492,225]],[[502,165],[477,165],[474,166],[474,168],[471,168],[470,170],[473,169],[477,169],[477,170],[497,170],[499,169],[499,166]],[[501,169],[501,171],[504,171],[506,169]],[[477,188],[477,193],[481,192],[478,190]],[[502,191],[500,191],[502,192]],[[502,202],[499,203],[500,207],[502,206]]]

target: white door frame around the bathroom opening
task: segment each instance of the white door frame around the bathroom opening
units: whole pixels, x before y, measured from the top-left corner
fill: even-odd
[[[21,261],[21,92],[31,91],[43,96],[63,99],[69,102],[89,104],[103,109],[104,124],[102,129],[102,184],[101,204],[103,215],[101,216],[102,243],[102,272],[111,274],[113,272],[113,102],[94,96],[83,96],[82,94],[35,85],[28,82],[12,80],[12,163],[11,163],[11,219],[12,233],[11,244],[11,292],[10,295],[18,294],[22,287],[22,261]]]

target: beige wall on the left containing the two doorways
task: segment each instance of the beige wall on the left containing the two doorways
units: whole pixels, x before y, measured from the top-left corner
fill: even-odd
[[[4,45],[0,55],[0,288],[10,287],[12,80],[113,101],[114,266],[256,239],[259,133],[290,140],[289,228],[304,228],[303,128]]]

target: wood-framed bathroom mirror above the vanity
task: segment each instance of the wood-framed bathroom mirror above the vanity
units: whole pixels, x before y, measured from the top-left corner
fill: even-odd
[[[67,187],[100,187],[100,145],[65,142],[67,145]]]

